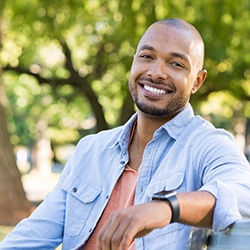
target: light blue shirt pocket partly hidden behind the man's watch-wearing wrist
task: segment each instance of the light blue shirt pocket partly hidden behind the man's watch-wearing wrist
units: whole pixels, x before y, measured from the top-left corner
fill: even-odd
[[[146,189],[146,195],[151,200],[154,193],[162,190],[176,190],[177,193],[185,192],[185,171],[169,173],[167,177],[153,179]],[[160,237],[169,233],[177,232],[185,227],[184,224],[171,223],[166,227],[156,229],[156,236]]]

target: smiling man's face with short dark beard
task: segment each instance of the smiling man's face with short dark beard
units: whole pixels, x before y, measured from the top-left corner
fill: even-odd
[[[188,31],[164,24],[146,31],[129,79],[130,93],[141,112],[171,119],[186,106],[201,85],[195,42]]]

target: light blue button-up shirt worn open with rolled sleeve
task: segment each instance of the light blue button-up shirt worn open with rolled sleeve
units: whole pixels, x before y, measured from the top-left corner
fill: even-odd
[[[54,190],[0,249],[77,249],[86,242],[126,166],[135,114],[124,126],[84,137]],[[135,204],[163,189],[207,190],[216,198],[213,230],[250,217],[250,167],[233,137],[188,105],[160,127],[144,151]],[[188,249],[190,227],[172,223],[136,239],[137,250]]]

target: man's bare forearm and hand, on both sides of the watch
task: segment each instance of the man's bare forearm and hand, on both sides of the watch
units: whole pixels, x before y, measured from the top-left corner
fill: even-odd
[[[192,226],[212,227],[216,200],[206,191],[180,193],[178,222]],[[153,200],[112,213],[100,230],[98,250],[128,249],[134,238],[142,237],[156,228],[168,225],[172,218],[168,202]]]

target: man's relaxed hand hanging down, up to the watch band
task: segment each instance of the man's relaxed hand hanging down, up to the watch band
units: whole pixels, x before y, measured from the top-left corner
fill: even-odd
[[[151,201],[115,211],[98,235],[98,250],[127,250],[134,238],[169,224],[171,209],[166,201]]]

